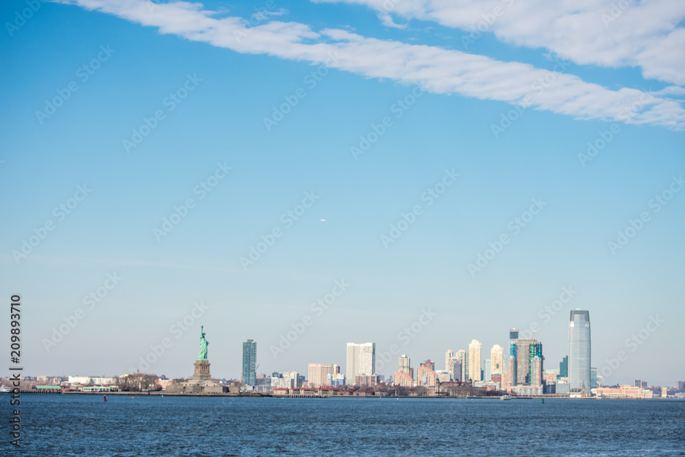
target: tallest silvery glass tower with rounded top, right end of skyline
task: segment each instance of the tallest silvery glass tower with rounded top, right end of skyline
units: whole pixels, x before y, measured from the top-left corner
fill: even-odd
[[[590,395],[590,312],[571,311],[569,320],[569,388]]]

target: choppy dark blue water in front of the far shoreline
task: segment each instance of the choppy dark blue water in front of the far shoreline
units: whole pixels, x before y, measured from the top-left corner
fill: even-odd
[[[3,456],[685,455],[685,402],[656,399],[21,400],[21,452],[0,408]]]

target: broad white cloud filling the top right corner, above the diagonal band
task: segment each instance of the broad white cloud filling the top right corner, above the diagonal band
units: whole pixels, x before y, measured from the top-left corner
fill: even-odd
[[[685,1],[312,0],[367,5],[379,14],[492,32],[577,64],[638,66],[645,78],[685,84]],[[499,8],[499,10],[496,10]]]

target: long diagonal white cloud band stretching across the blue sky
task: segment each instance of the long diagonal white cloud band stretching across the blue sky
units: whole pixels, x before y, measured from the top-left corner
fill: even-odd
[[[314,32],[308,25],[271,21],[246,27],[237,17],[216,18],[200,3],[172,2],[149,10],[145,0],[62,0],[88,10],[114,14],[162,34],[176,34],[240,53],[266,53],[278,58],[322,64],[338,55],[338,69],[365,77],[423,84],[438,94],[525,103],[538,110],[577,119],[685,128],[685,110],[679,101],[636,89],[608,90],[577,76],[552,73],[519,62],[501,62],[482,55],[425,45],[378,40],[341,29]],[[398,3],[400,5],[401,3]],[[656,96],[655,96],[656,95]],[[630,106],[638,109],[628,111]]]

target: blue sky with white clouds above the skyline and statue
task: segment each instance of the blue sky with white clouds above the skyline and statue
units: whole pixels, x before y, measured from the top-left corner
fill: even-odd
[[[682,380],[671,348],[683,343],[685,193],[669,191],[685,171],[685,10],[631,5],[605,24],[610,6],[595,1],[566,11],[74,0],[32,14],[25,1],[3,3],[0,268],[3,295],[23,299],[25,373],[118,375],[170,338],[147,371],[190,375],[200,324],[221,378],[240,376],[247,338],[264,373],[344,365],[349,341],[373,341],[379,356],[395,344],[414,366],[430,358],[443,369],[447,349],[475,338],[489,354],[506,347],[509,328],[534,323],[545,368],[556,368],[569,311],[582,308],[593,367],[627,354],[606,383]],[[498,7],[465,49],[462,37]],[[268,14],[244,27],[255,8]],[[64,100],[53,114],[36,114],[55,97]],[[141,127],[147,135],[127,148]],[[355,157],[360,136],[375,141]],[[458,178],[429,205],[421,197],[445,169]],[[197,186],[217,170],[201,198]],[[664,192],[668,203],[654,203]],[[298,209],[306,193],[316,199]],[[187,199],[186,217],[155,237]],[[545,206],[514,233],[510,221],[533,199]],[[60,219],[55,208],[70,203]],[[417,205],[386,247],[382,236]],[[643,212],[649,220],[612,249]],[[25,257],[13,254],[50,221]],[[240,259],[274,229],[282,236],[245,269]],[[473,273],[502,234],[510,243]],[[121,277],[111,290],[108,273]],[[318,315],[310,304],[336,280],[349,288]],[[543,317],[569,286],[573,299]],[[89,309],[84,297],[98,288],[106,295]],[[174,330],[199,301],[208,309]],[[398,333],[424,309],[437,317],[404,345]],[[656,316],[664,322],[633,351],[627,338]],[[379,373],[395,371],[392,359]]]

